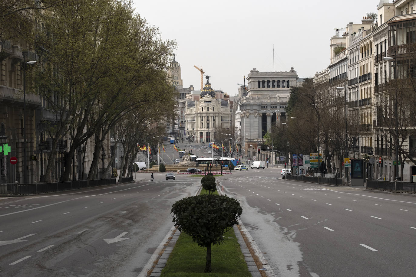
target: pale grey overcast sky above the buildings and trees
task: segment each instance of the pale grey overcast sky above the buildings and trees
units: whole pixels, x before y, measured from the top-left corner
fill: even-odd
[[[174,39],[183,87],[201,86],[211,75],[213,89],[238,93],[253,67],[313,77],[329,65],[334,28],[360,23],[377,12],[379,0],[134,0],[136,12],[158,27],[163,39]],[[342,34],[344,30],[340,30]],[[205,83],[205,78],[204,78]]]

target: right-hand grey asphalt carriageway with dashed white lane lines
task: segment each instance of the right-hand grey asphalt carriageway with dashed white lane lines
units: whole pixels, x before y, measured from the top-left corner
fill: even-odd
[[[277,169],[220,184],[276,276],[415,276],[414,195],[287,181]]]

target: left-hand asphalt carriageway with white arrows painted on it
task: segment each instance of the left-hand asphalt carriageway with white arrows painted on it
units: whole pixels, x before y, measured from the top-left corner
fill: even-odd
[[[146,175],[144,175],[146,174]],[[147,173],[134,184],[0,199],[0,276],[137,276],[199,180]]]

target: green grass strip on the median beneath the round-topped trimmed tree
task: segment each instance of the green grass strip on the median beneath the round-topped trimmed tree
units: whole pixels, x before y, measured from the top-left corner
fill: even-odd
[[[207,193],[208,191],[204,189],[201,191],[201,194]],[[215,194],[218,194],[218,192],[215,191]],[[192,242],[191,236],[181,233],[175,247],[169,255],[166,266],[161,272],[161,276],[251,276],[233,229],[224,233],[224,242],[225,243],[220,245],[212,245],[212,272],[204,273],[206,264],[206,248],[202,248],[198,246],[197,243]]]

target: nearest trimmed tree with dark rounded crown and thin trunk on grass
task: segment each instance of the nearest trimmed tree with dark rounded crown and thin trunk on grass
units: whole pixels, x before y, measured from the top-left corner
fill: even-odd
[[[211,272],[211,245],[224,242],[223,234],[238,224],[242,212],[239,201],[217,194],[186,197],[176,201],[171,209],[178,230],[207,248],[204,272]]]

